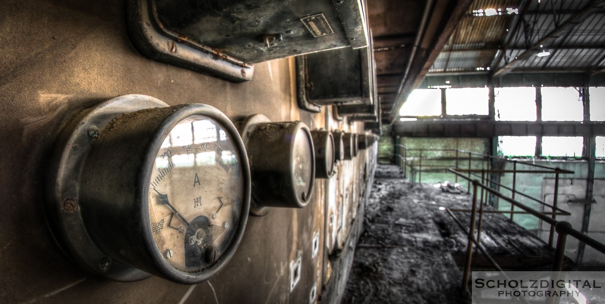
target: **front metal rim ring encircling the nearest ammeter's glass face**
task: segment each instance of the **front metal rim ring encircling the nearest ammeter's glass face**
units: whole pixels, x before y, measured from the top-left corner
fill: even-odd
[[[240,219],[238,219],[238,227],[235,230],[234,238],[229,243],[227,249],[221,256],[212,263],[208,268],[200,269],[200,271],[194,273],[188,273],[185,271],[181,271],[179,269],[174,268],[168,262],[166,262],[165,257],[162,256],[162,253],[157,249],[157,245],[155,244],[155,240],[151,231],[151,226],[149,225],[149,183],[150,177],[152,174],[152,170],[155,164],[155,157],[157,157],[157,153],[160,151],[160,147],[162,146],[162,142],[166,139],[168,134],[172,131],[172,129],[179,124],[181,121],[188,119],[189,117],[202,115],[214,119],[216,122],[221,124],[224,130],[229,134],[230,138],[234,141],[235,148],[237,148],[237,152],[240,154],[240,164],[242,167],[243,174],[243,182],[244,182],[244,191],[243,195],[243,206],[240,214]],[[143,215],[143,231],[145,231],[146,242],[145,244],[148,246],[149,253],[151,254],[152,260],[157,267],[159,273],[166,277],[166,279],[172,280],[174,282],[185,283],[185,284],[196,284],[200,282],[204,282],[205,280],[210,279],[210,277],[217,273],[226,262],[231,259],[233,254],[235,253],[235,249],[239,245],[241,241],[241,237],[244,234],[244,229],[246,228],[247,222],[247,214],[249,213],[250,208],[250,168],[249,162],[246,154],[246,148],[244,147],[244,143],[241,140],[240,134],[235,128],[235,125],[223,114],[221,111],[217,110],[217,108],[211,107],[209,105],[202,104],[190,104],[185,107],[179,108],[177,111],[172,113],[171,115],[165,117],[164,121],[160,125],[157,133],[155,134],[154,140],[152,140],[151,144],[148,147],[148,151],[146,153],[145,165],[143,166],[143,170],[140,173],[140,183],[141,190],[143,193],[141,195],[141,213]]]

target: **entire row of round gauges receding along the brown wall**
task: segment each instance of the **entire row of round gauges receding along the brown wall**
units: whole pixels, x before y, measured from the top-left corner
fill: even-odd
[[[64,251],[91,273],[200,283],[232,257],[248,213],[306,206],[315,177],[332,176],[336,160],[367,147],[366,137],[262,115],[236,127],[209,105],[116,97],[60,134],[48,219]]]

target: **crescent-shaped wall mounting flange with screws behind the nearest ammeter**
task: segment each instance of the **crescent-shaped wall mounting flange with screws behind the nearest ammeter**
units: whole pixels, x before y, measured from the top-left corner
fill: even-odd
[[[159,107],[168,105],[154,97],[131,94],[85,110],[61,131],[51,156],[46,205],[51,233],[74,262],[108,279],[133,282],[151,274],[111,259],[91,239],[80,210],[82,167],[103,126],[120,114]]]

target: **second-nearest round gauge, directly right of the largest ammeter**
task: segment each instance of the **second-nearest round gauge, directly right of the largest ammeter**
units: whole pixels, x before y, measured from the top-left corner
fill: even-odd
[[[256,114],[238,124],[251,161],[252,207],[256,216],[266,207],[303,208],[315,185],[315,151],[302,122],[270,122]]]

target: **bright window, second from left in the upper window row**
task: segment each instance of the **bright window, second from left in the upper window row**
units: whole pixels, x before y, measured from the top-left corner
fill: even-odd
[[[488,88],[448,88],[445,98],[448,115],[489,114]]]

